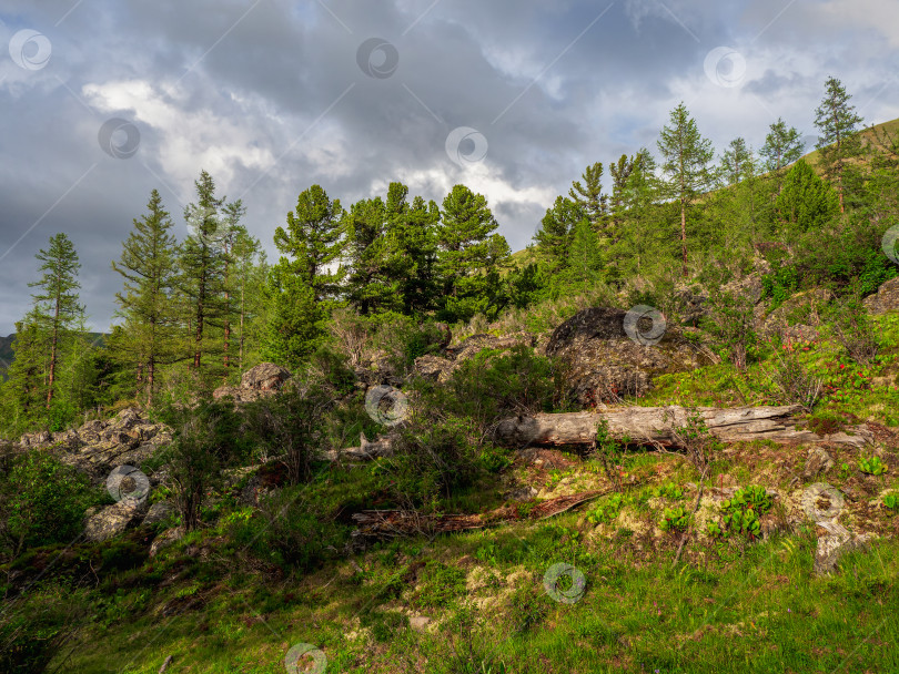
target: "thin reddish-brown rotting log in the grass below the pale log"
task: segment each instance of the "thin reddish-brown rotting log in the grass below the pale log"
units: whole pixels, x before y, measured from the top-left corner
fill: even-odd
[[[478,514],[424,515],[406,510],[363,510],[352,515],[353,521],[358,525],[358,529],[353,531],[352,535],[375,538],[415,534],[433,535],[483,529],[514,521],[539,521],[562,514],[576,506],[598,499],[612,491],[614,490],[595,489],[566,497],[556,497],[533,504],[512,503]]]

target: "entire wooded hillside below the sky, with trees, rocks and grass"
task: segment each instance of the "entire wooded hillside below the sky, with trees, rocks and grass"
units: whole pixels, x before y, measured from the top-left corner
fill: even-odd
[[[515,253],[477,185],[392,182],[297,185],[269,259],[201,168],[103,331],[52,235],[0,672],[897,671],[899,120],[831,76],[815,125],[680,103]]]

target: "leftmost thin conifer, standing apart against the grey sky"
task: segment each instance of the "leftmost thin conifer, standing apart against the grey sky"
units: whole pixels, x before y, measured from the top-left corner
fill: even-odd
[[[49,335],[47,409],[50,409],[62,341],[83,317],[84,308],[78,302],[81,285],[77,278],[81,264],[72,242],[64,234],[50,237],[50,247],[41,249],[34,257],[42,263],[39,270],[43,272],[43,276],[28,285],[39,288],[38,294],[32,295],[38,309],[38,325]]]

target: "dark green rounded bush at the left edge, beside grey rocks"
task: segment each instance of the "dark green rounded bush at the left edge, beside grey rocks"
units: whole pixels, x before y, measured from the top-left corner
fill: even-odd
[[[84,474],[47,452],[32,450],[8,464],[9,472],[0,476],[0,544],[13,556],[71,542],[84,511],[104,499]]]

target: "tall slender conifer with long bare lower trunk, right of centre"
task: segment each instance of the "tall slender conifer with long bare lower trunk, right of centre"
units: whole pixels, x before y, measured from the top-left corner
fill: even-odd
[[[690,118],[681,102],[671,111],[670,126],[661,130],[658,149],[665,160],[661,170],[668,174],[666,194],[680,205],[680,246],[684,276],[687,275],[687,211],[699,193],[714,182],[709,162],[715,156],[711,141],[699,133],[696,121]]]

